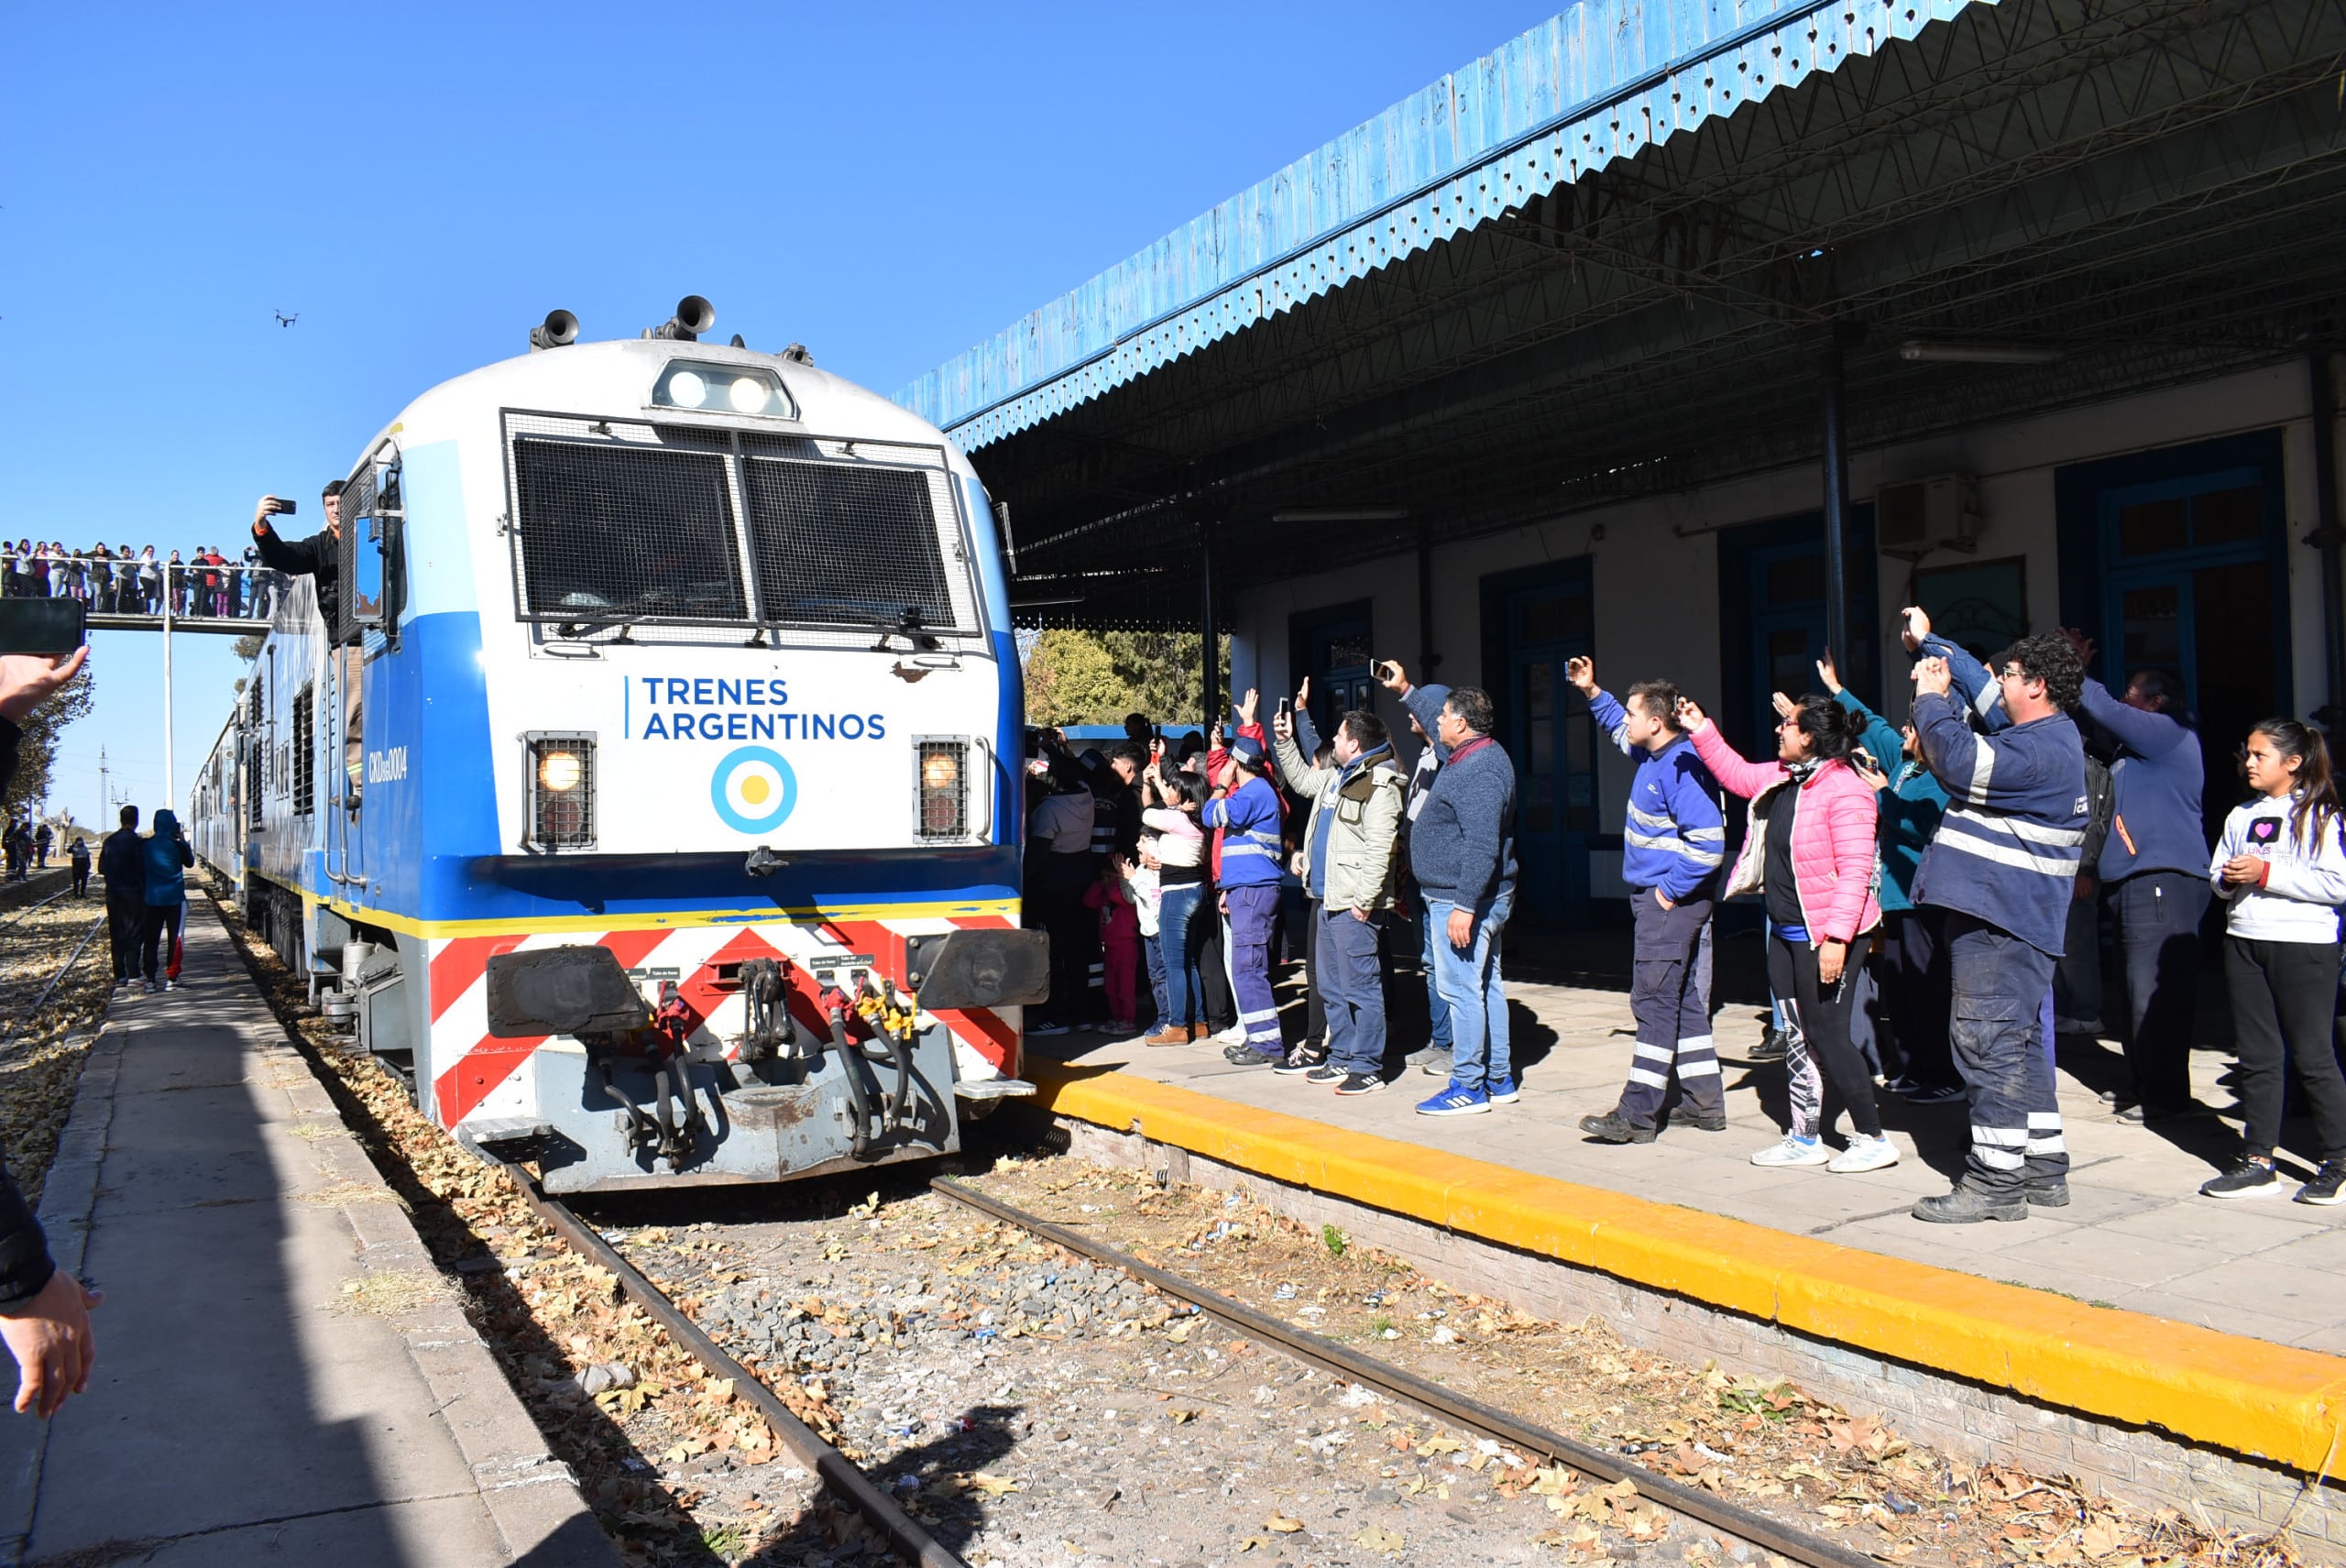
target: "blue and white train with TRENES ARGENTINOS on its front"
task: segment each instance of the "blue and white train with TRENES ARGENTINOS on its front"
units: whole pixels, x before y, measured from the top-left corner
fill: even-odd
[[[988,495],[711,319],[554,312],[404,408],[197,793],[328,1016],[554,1192],[934,1157],[1032,1091]]]

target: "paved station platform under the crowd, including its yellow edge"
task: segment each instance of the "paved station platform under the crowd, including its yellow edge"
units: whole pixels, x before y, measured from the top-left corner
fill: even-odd
[[[1729,1131],[1593,1143],[1577,1122],[1621,1089],[1628,998],[1537,984],[1508,995],[1523,1101],[1478,1117],[1415,1115],[1440,1087],[1415,1070],[1384,1094],[1337,1099],[1234,1068],[1218,1045],[1072,1035],[1039,1042],[1067,1066],[1030,1063],[1030,1077],[1058,1115],[1837,1345],[2304,1469],[2332,1453],[2346,1413],[2334,1354],[2346,1207],[2198,1197],[2238,1124],[2116,1122],[2088,1087],[2107,1080],[2114,1045],[2064,1042],[2072,1207],[1947,1228],[1907,1207],[1959,1169],[1961,1103],[1891,1099],[1903,1164],[1889,1171],[1757,1169],[1750,1153],[1781,1136],[1783,1073],[1745,1061],[1760,1023],[1729,1007],[1717,1014]],[[2194,1063],[2215,1106],[2231,1103],[2222,1070],[2215,1054]]]

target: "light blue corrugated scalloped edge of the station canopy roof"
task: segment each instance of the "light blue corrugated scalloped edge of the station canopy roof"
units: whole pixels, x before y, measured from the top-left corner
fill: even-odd
[[[1555,185],[1996,0],[1584,0],[948,359],[896,401],[964,448]]]

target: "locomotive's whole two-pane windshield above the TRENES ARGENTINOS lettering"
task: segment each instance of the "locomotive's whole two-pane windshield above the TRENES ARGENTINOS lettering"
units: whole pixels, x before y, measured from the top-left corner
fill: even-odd
[[[523,620],[976,624],[938,448],[507,420]]]

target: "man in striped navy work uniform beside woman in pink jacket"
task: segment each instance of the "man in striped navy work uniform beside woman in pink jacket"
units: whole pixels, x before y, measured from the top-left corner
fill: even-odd
[[[2090,822],[2086,746],[2067,714],[2086,671],[2060,634],[2020,638],[1992,669],[2008,725],[1980,735],[1952,695],[1947,660],[1914,664],[1914,737],[1947,789],[1914,901],[1947,911],[1947,1035],[1971,1089],[1964,1176],[1914,1204],[1914,1218],[1942,1225],[2018,1221],[2029,1204],[2069,1202],[2041,1009]]]

